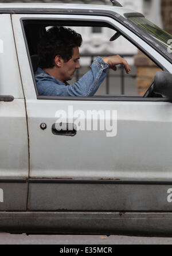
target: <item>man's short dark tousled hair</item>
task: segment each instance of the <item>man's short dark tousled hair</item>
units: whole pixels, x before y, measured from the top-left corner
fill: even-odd
[[[50,28],[38,44],[38,65],[40,68],[53,68],[54,58],[59,55],[64,61],[69,61],[73,48],[80,47],[83,40],[79,33],[64,27]]]

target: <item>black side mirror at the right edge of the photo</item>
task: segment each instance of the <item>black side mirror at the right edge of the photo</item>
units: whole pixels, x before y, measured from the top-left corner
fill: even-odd
[[[154,78],[154,92],[163,97],[172,98],[172,74],[169,72],[158,71]]]

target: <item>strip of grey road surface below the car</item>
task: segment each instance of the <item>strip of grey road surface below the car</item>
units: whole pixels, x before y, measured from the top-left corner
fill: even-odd
[[[25,235],[0,233],[0,245],[172,245],[172,238],[118,235]]]

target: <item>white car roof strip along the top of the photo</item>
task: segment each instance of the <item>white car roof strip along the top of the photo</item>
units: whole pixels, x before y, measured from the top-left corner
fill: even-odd
[[[131,9],[112,5],[88,5],[78,3],[0,3],[0,13],[50,13],[55,11],[114,11],[124,17],[124,13],[136,13]],[[124,17],[125,18],[125,17]]]

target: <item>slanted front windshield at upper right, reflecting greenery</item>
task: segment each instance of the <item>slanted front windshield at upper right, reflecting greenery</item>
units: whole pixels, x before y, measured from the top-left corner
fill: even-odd
[[[144,17],[130,17],[128,19],[130,19],[132,22],[138,25],[140,29],[144,30],[144,32],[146,31],[151,36],[151,38],[154,38],[156,41],[158,41],[161,44],[161,46],[165,48],[167,55],[172,53],[171,34],[165,32],[165,30],[159,28],[157,25],[148,21]]]

